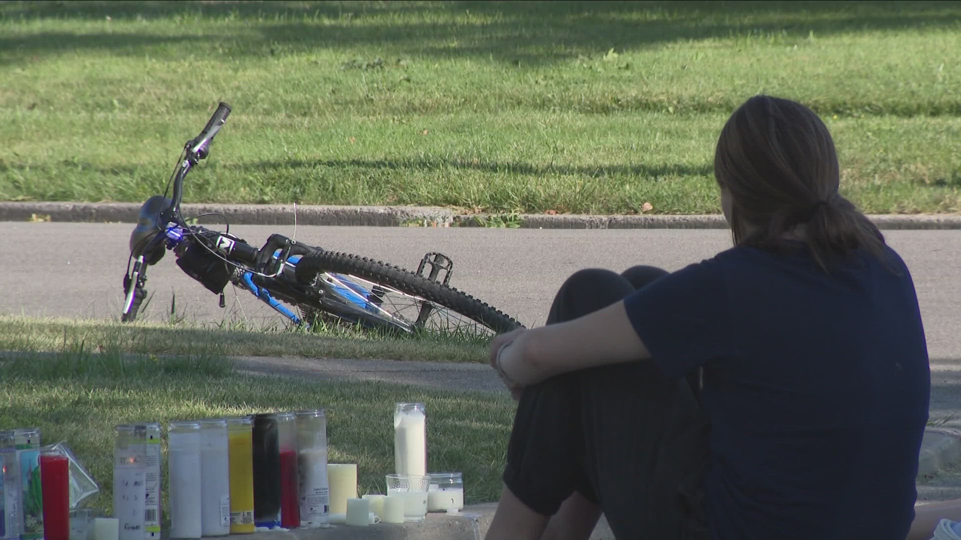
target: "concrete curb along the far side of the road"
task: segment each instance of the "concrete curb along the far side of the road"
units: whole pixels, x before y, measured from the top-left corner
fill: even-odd
[[[134,223],[139,203],[0,202],[0,221],[65,221]],[[231,224],[291,225],[293,205],[185,204],[185,216],[216,212]],[[961,215],[870,215],[885,230],[957,230]],[[206,216],[201,223],[222,222]],[[524,229],[727,229],[724,217],[692,215],[580,215],[580,214],[461,214],[439,207],[298,206],[300,225],[359,225],[373,227],[486,227],[517,226]]]

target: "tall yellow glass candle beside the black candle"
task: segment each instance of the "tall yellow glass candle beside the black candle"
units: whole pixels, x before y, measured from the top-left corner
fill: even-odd
[[[231,534],[254,532],[254,419],[227,419],[230,447]]]

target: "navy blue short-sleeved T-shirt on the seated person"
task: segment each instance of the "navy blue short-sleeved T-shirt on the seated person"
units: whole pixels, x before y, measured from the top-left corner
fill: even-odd
[[[799,243],[739,246],[629,296],[670,376],[703,367],[712,537],[904,540],[930,379],[899,256],[825,273]]]

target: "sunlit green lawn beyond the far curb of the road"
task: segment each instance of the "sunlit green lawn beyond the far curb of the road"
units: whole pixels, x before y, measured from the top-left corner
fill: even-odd
[[[825,118],[871,212],[961,209],[956,2],[6,2],[0,199],[719,211],[747,97]]]

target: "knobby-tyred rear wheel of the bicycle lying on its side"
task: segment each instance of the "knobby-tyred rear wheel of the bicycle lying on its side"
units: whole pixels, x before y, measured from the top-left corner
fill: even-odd
[[[399,266],[356,255],[321,251],[297,262],[298,282],[324,280],[347,301],[386,328],[460,337],[488,337],[521,328],[504,312]]]

